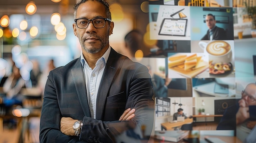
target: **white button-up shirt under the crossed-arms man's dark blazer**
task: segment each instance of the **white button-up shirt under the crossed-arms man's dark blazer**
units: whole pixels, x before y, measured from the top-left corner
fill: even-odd
[[[108,61],[110,49],[111,48],[109,46],[108,50],[104,53],[104,55],[96,62],[96,66],[94,69],[90,68],[88,63],[85,61],[85,58],[83,57],[83,53],[81,52],[81,64],[83,66],[83,71],[85,74],[88,104],[90,107],[91,117],[94,119],[96,119],[96,101],[99,85],[101,83],[101,78],[103,76],[103,72]]]

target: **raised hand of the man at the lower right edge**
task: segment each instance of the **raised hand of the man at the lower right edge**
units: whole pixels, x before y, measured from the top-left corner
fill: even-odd
[[[244,99],[240,99],[238,101],[239,103],[239,109],[236,113],[236,125],[239,125],[240,123],[243,123],[246,119],[249,119],[249,107],[247,102]]]

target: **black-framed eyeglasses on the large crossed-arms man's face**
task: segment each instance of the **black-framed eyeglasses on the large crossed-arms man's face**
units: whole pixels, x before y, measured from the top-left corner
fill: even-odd
[[[78,19],[75,19],[75,22],[76,22],[76,26],[81,29],[87,28],[90,21],[92,21],[92,24],[95,28],[103,28],[106,24],[106,20],[111,22],[109,18],[93,18],[91,20],[88,20],[86,18],[78,18]]]

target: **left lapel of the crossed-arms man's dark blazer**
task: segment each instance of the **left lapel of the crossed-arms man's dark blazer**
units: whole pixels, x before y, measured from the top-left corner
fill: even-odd
[[[74,84],[76,86],[76,91],[78,94],[79,101],[83,108],[83,113],[85,114],[86,117],[91,117],[90,108],[88,105],[83,66],[80,61],[81,61],[81,57],[76,61],[76,64],[71,69],[71,73],[72,73],[72,78],[74,79]]]

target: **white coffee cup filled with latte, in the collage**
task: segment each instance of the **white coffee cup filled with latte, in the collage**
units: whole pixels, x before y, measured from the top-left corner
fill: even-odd
[[[209,55],[209,62],[224,64],[232,61],[231,46],[228,42],[213,40],[208,43],[200,41],[198,44],[204,53]]]

